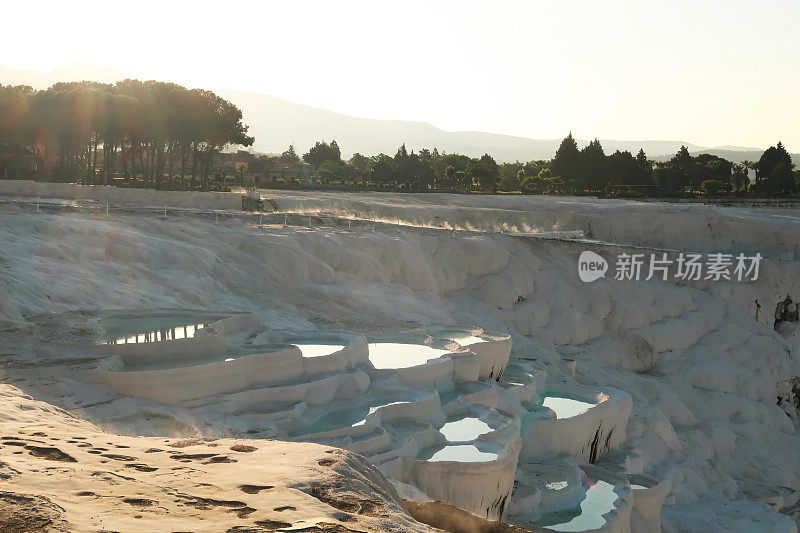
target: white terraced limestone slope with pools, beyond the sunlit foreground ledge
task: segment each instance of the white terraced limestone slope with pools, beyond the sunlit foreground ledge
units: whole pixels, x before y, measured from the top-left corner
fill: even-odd
[[[3,379],[109,431],[345,448],[431,523],[796,528],[800,352],[774,312],[800,294],[792,213],[285,192],[255,225],[191,195],[165,220],[3,187]],[[37,212],[39,193],[61,200]],[[586,284],[587,249],[763,261],[754,281]],[[393,365],[378,344],[410,348]]]

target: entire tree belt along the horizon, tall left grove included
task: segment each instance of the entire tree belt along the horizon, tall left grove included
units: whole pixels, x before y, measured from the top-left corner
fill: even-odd
[[[0,178],[110,183],[114,178],[146,186],[209,188],[209,177],[240,181],[247,165],[224,168],[218,154],[231,145],[251,146],[242,112],[211,91],[173,83],[124,80],[56,83],[46,90],[0,85]],[[267,168],[266,156],[249,170]],[[401,190],[461,189],[528,193],[653,194],[751,192],[791,195],[798,172],[779,142],[758,161],[735,164],[712,154],[692,156],[684,146],[668,161],[606,155],[597,139],[582,149],[570,133],[550,160],[498,163],[487,154],[469,157],[436,148],[394,155],[341,155],[335,140],[308,152],[290,147],[278,156],[285,167],[311,165],[321,183],[372,183]],[[751,183],[750,171],[755,179]]]

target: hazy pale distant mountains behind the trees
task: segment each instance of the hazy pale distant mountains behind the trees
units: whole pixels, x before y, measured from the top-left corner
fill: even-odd
[[[58,81],[94,80],[115,82],[129,78],[123,72],[87,64],[72,64],[51,72],[15,70],[0,66],[0,83],[25,84],[44,89]],[[364,155],[386,153],[393,155],[405,143],[409,150],[438,148],[440,152],[458,152],[477,157],[489,153],[498,161],[529,161],[550,159],[561,139],[529,139],[478,131],[445,131],[425,122],[380,120],[334,113],[325,109],[276,98],[266,94],[247,93],[228,89],[213,89],[242,109],[250,135],[256,138],[253,149],[259,152],[280,153],[294,144],[303,153],[318,140],[336,139],[342,154]],[[588,144],[578,139],[578,145]],[[740,146],[704,147],[685,141],[617,141],[600,139],[606,154],[615,150],[636,153],[643,148],[648,157],[666,160],[681,146],[693,154],[710,153],[741,162],[758,160],[762,148]],[[800,154],[792,154],[800,163]]]

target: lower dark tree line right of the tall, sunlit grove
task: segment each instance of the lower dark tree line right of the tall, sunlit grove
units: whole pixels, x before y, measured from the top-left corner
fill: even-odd
[[[291,156],[291,157],[290,157]],[[299,161],[294,148],[282,158]],[[394,156],[356,153],[341,157],[335,140],[318,141],[302,156],[322,183],[373,182],[400,189],[475,189],[528,193],[684,194],[693,192],[791,195],[798,192],[800,173],[782,143],[767,149],[758,161],[733,163],[713,154],[692,156],[682,146],[667,161],[653,161],[643,149],[636,155],[617,150],[606,155],[599,140],[582,149],[570,133],[551,160],[497,163],[484,154],[473,158],[439,153],[437,149],[407,150]],[[755,171],[755,179],[748,177]]]

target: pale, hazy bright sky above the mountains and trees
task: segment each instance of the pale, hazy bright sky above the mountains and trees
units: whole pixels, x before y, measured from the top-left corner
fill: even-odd
[[[800,1],[7,2],[0,64],[85,62],[369,118],[800,152]]]

